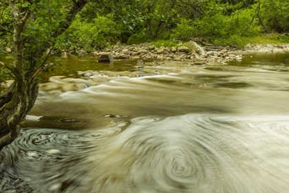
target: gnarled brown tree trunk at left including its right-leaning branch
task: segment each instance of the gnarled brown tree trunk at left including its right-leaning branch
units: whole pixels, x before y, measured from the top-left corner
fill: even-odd
[[[50,55],[52,49],[45,57],[43,63],[37,63],[37,59],[43,56],[43,52],[49,48],[46,44],[39,46],[36,50],[25,50],[25,41],[29,37],[23,37],[25,25],[28,22],[32,11],[26,9],[25,6],[19,6],[23,0],[10,0],[7,5],[10,8],[13,27],[13,64],[3,63],[0,61],[0,67],[4,66],[10,70],[14,77],[14,82],[10,87],[1,94],[0,92],[0,151],[6,145],[12,143],[17,138],[20,132],[19,123],[23,121],[25,116],[32,109],[39,90],[39,74],[47,68],[45,61]],[[34,1],[29,1],[32,4]],[[65,14],[65,21],[61,26],[51,32],[50,38],[56,39],[62,34],[72,23],[76,14],[80,12],[84,6],[89,3],[89,0],[72,0],[72,5],[68,6]],[[33,18],[33,17],[32,17]],[[49,39],[47,39],[49,41]],[[55,43],[54,43],[55,45]],[[51,44],[50,44],[51,46]],[[53,46],[52,46],[53,48]],[[30,56],[29,56],[30,54]],[[27,65],[30,65],[27,68]],[[26,68],[25,66],[26,65]],[[26,69],[26,70],[25,70]]]

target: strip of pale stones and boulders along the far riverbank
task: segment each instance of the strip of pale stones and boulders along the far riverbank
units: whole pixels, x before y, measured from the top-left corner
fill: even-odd
[[[242,54],[250,52],[289,52],[289,44],[283,45],[247,45],[217,46],[211,44],[198,45],[194,41],[179,43],[171,48],[143,43],[140,45],[115,45],[114,48],[94,52],[96,55],[111,54],[114,59],[193,61],[195,63],[226,63],[231,60],[242,60]]]

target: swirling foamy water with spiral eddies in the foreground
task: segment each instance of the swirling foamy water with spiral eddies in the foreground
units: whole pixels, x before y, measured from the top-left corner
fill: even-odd
[[[23,130],[0,154],[0,189],[289,191],[289,116],[186,114],[140,117],[125,125]]]

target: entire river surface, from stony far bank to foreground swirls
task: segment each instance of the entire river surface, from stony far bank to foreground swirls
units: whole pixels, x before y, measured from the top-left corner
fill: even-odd
[[[43,83],[1,192],[289,192],[289,53],[133,63]]]

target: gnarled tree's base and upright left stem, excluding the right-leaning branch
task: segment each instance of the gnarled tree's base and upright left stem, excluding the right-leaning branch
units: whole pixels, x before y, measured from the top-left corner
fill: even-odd
[[[0,150],[14,141],[20,132],[19,123],[25,118],[29,112],[29,106],[33,106],[36,94],[32,94],[32,90],[37,90],[37,83],[28,83],[25,80],[23,69],[24,42],[22,32],[24,25],[28,20],[29,13],[21,17],[19,7],[15,6],[16,1],[10,1],[11,17],[13,21],[13,50],[14,64],[6,64],[13,76],[14,83],[7,92],[1,94],[0,106]]]

